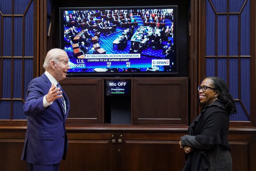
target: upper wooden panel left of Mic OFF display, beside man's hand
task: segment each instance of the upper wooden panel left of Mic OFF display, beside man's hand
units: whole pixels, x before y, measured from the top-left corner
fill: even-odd
[[[72,104],[67,123],[101,123],[101,79],[65,79],[60,84]]]

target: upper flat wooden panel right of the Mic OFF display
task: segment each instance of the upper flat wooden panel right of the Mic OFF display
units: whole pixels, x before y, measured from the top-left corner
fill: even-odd
[[[134,79],[133,123],[187,124],[186,78]]]

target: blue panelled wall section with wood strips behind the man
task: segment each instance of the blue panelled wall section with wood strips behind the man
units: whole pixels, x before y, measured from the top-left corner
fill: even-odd
[[[1,30],[0,17],[0,32],[3,32],[3,42],[0,42],[0,46],[3,46],[3,52],[0,51],[0,64],[3,63],[3,67],[0,68],[0,73],[3,74],[3,81],[0,80],[0,88],[3,90],[0,95],[2,97],[0,100],[0,119],[26,118],[22,112],[22,107],[28,83],[33,78],[34,61],[34,2],[32,1],[31,4],[29,2],[30,0],[14,0],[12,4],[10,0],[0,1],[2,14],[23,15],[22,17],[14,16],[13,20],[10,16],[3,16],[3,30]],[[28,11],[25,13],[28,5]],[[13,11],[12,6],[14,6]],[[23,19],[25,21],[24,26]],[[23,29],[25,40],[23,40]],[[11,87],[13,87],[13,91]],[[23,97],[22,94],[24,94]]]

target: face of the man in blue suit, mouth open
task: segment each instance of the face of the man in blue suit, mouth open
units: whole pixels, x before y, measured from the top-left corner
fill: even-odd
[[[59,56],[59,62],[55,63],[54,78],[57,81],[66,78],[68,70],[70,70],[68,64],[68,55],[66,53],[63,53]]]

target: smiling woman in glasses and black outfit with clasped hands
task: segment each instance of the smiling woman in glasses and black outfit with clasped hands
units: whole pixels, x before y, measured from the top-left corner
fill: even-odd
[[[206,77],[198,86],[201,113],[188,127],[189,135],[180,138],[186,163],[183,171],[231,171],[229,153],[229,115],[236,104],[224,80]]]

